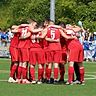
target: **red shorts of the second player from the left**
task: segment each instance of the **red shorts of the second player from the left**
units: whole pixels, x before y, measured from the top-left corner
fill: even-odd
[[[19,61],[28,62],[29,61],[29,48],[19,48]]]

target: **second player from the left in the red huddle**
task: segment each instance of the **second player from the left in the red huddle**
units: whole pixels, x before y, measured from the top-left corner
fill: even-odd
[[[28,25],[20,25],[18,28],[18,32],[20,33],[19,37],[19,66],[18,66],[18,83],[30,83],[27,80],[27,64],[29,62],[29,48],[30,48],[30,35],[31,32],[29,30]]]

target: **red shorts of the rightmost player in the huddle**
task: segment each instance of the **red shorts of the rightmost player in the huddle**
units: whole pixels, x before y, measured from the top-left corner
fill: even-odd
[[[83,62],[84,51],[82,46],[74,47],[69,49],[69,61],[72,62]]]

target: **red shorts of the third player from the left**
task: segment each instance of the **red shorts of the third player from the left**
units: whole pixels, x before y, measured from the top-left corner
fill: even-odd
[[[30,48],[30,58],[29,62],[32,65],[44,64],[45,63],[45,54],[42,48]]]

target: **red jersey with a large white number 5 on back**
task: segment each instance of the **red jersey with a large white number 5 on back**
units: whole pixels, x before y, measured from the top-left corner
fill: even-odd
[[[60,31],[58,28],[49,27],[47,30],[47,37],[53,40],[60,39]],[[49,50],[61,50],[61,44],[59,42],[48,42]]]

